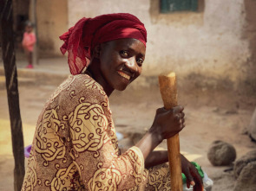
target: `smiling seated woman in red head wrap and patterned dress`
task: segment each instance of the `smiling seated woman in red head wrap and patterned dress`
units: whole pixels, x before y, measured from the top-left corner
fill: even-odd
[[[39,116],[23,190],[170,190],[167,151],[153,150],[183,129],[183,107],[158,109],[146,135],[121,154],[108,105],[141,74],[144,25],[130,14],[82,18],[61,39],[73,75]],[[187,186],[201,190],[197,170],[181,158]]]

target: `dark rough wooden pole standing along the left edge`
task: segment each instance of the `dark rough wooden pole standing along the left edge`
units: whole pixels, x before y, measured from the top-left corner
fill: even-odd
[[[19,108],[17,89],[16,57],[14,50],[12,0],[0,0],[1,45],[3,48],[3,67],[10,113],[12,151],[14,156],[14,190],[20,191],[23,185],[24,146],[23,127]]]

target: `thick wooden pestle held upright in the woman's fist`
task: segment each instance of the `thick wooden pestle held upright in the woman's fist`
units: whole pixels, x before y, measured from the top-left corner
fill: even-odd
[[[161,98],[164,107],[169,110],[178,105],[175,73],[161,74],[159,77]],[[182,191],[181,154],[179,134],[167,139],[169,168],[171,174],[171,188]]]

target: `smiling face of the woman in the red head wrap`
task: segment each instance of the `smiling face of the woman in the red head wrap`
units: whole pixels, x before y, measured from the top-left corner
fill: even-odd
[[[103,43],[100,50],[102,77],[108,88],[124,90],[142,71],[146,48],[136,39]]]

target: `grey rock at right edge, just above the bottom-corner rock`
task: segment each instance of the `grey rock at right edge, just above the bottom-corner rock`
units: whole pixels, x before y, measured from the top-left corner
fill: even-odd
[[[240,159],[234,162],[234,166],[233,166],[234,176],[238,178],[240,176],[240,172],[242,171],[242,169],[244,169],[249,162],[255,162],[255,161],[256,161],[256,150],[251,150],[250,152],[246,153],[245,156],[241,156]]]

